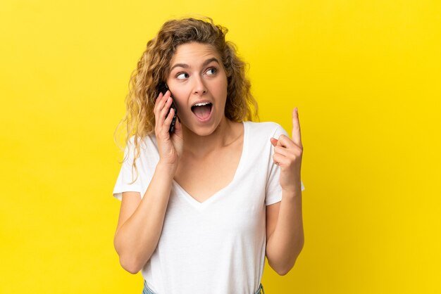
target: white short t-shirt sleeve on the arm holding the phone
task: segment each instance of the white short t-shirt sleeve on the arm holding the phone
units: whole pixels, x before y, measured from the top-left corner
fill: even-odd
[[[132,140],[130,140],[125,147],[123,165],[121,166],[120,173],[118,174],[118,179],[116,179],[116,184],[113,188],[113,197],[117,198],[118,200],[123,199],[123,192],[135,191],[141,193],[139,167],[137,177],[135,167],[132,166],[134,150],[135,146],[132,143]],[[136,179],[136,181],[132,183],[134,179]]]

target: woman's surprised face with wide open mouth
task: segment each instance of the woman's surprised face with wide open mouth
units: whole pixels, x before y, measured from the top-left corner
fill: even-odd
[[[225,120],[228,82],[214,46],[196,42],[178,46],[166,82],[180,122],[194,134],[209,135]]]

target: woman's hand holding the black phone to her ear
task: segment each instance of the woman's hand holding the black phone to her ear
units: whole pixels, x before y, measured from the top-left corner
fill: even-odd
[[[170,91],[166,94],[160,93],[154,106],[155,115],[155,135],[158,143],[159,161],[163,164],[178,167],[178,160],[182,155],[183,137],[182,125],[177,119],[175,123],[175,132],[170,134],[170,124],[175,115],[175,110],[170,109],[173,99],[170,97]]]

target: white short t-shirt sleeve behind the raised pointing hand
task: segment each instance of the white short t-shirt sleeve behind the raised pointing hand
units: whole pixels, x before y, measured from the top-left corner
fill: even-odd
[[[287,132],[285,129],[278,127],[275,129],[275,132],[273,134],[273,138],[279,139],[280,135],[286,135]],[[269,141],[269,139],[268,139]],[[273,161],[273,155],[274,155],[274,147],[271,145],[271,156],[268,160],[268,181],[266,183],[266,196],[265,196],[265,204],[271,205],[274,203],[278,203],[282,200],[282,186],[280,186],[280,166],[276,165]],[[300,181],[302,191],[304,191],[305,187],[303,185],[303,182]]]

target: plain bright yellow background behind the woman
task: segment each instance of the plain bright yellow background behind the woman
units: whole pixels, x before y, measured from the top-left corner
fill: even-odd
[[[299,107],[306,243],[266,293],[441,293],[441,2],[2,1],[0,293],[140,293],[113,249],[130,72],[209,15],[261,121]]]

